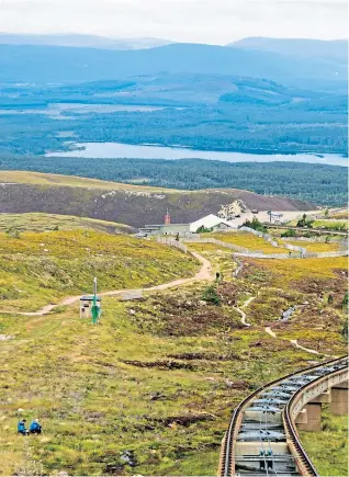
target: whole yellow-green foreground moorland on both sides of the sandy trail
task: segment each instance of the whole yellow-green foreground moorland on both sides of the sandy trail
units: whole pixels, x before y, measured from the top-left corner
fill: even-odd
[[[49,252],[38,253],[41,243]],[[97,232],[0,234],[0,245],[1,293],[31,297],[5,296],[10,313],[0,311],[1,476],[215,475],[232,409],[261,385],[346,353],[346,258],[244,259],[233,279],[232,252],[198,243],[214,270],[228,264],[221,283],[146,292],[137,302],[104,296],[92,326],[76,303],[42,316],[15,311],[88,289],[97,266],[104,287],[160,283],[196,264],[155,242]],[[44,433],[16,436],[23,417],[38,418]],[[335,442],[327,434],[331,468],[347,475],[345,451],[337,452],[345,433],[337,430]]]

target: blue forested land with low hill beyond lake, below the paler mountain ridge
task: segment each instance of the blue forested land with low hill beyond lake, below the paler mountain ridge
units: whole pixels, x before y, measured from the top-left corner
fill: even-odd
[[[119,110],[111,111],[112,105]],[[67,150],[71,140],[346,155],[347,110],[347,94],[340,91],[213,73],[5,84],[0,95],[0,155]]]

